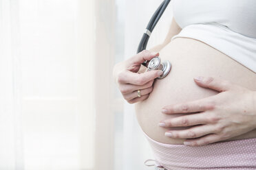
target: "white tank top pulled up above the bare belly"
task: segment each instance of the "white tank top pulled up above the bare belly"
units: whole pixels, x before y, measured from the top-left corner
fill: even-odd
[[[256,0],[173,0],[182,31],[256,73]]]

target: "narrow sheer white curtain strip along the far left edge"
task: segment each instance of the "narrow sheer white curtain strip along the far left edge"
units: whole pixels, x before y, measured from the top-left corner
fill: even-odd
[[[23,169],[18,6],[0,1],[0,169]]]

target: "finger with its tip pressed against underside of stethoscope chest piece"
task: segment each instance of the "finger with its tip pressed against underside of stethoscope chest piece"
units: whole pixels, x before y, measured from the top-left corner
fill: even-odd
[[[147,71],[141,74],[124,71],[118,76],[118,82],[120,84],[135,84],[142,86],[147,82],[156,79],[156,77],[159,77],[162,73],[163,72],[160,70]]]

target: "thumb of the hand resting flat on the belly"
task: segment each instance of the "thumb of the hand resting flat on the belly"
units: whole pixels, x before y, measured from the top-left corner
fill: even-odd
[[[204,88],[211,88],[219,92],[231,90],[236,86],[226,80],[221,80],[219,78],[213,78],[213,77],[197,77],[197,78],[194,78],[194,81],[196,84],[198,84],[198,86],[201,86]]]

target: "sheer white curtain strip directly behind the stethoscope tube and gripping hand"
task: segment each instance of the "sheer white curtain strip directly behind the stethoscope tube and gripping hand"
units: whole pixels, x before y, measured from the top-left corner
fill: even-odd
[[[153,12],[162,3],[162,0],[126,0],[125,2],[125,58],[129,58],[136,53],[142,33],[145,32],[151,15],[153,15]],[[158,25],[153,30],[147,49],[163,42],[169,30],[171,19],[172,11],[170,3]],[[153,169],[153,167],[145,167],[143,164],[145,160],[149,158],[153,159],[153,154],[136,121],[134,106],[125,103],[124,114],[122,169]]]

